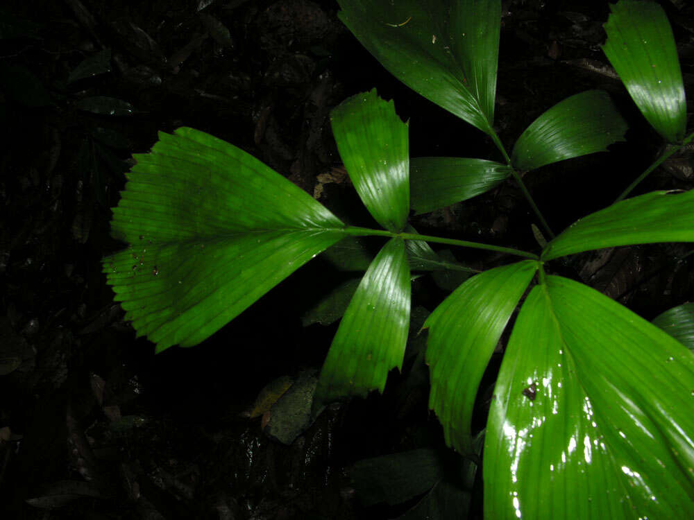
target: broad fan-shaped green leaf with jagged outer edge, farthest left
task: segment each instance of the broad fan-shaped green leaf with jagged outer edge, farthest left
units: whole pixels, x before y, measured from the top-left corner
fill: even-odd
[[[112,220],[130,246],[103,272],[158,352],[200,343],[344,236],[302,189],[204,132],[162,132],[135,159]]]

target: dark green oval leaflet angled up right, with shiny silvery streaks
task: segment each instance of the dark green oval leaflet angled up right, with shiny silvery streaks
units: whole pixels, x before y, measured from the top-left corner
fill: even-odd
[[[528,126],[516,141],[511,162],[534,170],[573,157],[602,152],[624,141],[627,122],[603,90],[587,90],[560,101]]]

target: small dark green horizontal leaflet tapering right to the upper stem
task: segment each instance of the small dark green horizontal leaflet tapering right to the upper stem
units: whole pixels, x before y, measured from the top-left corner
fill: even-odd
[[[427,213],[489,191],[511,175],[511,168],[485,159],[418,157],[409,162],[410,204]]]

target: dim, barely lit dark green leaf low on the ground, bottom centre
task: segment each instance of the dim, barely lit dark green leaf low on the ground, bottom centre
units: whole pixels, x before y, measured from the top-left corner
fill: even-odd
[[[363,505],[395,505],[427,492],[441,480],[445,456],[435,449],[403,451],[359,460],[349,474]]]

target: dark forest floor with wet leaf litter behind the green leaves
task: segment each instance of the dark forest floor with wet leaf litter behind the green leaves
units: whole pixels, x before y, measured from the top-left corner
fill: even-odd
[[[692,95],[694,8],[685,4],[662,3]],[[101,257],[124,246],[110,238],[109,221],[130,155],[149,150],[158,130],[217,135],[309,193],[321,184],[323,204],[366,223],[339,175],[328,120],[347,96],[376,87],[394,98],[409,119],[413,157],[500,159],[482,132],[394,80],[338,9],[328,0],[3,3],[3,519],[383,519],[416,504],[364,508],[348,471],[363,458],[442,446],[426,381],[398,393],[407,366],[382,397],[330,407],[289,447],[267,438],[260,418],[242,415],[270,381],[320,367],[336,327],[303,328],[301,315],[342,275],[310,263],[202,345],[155,356],[101,274]],[[496,126],[507,150],[536,116],[585,89],[606,89],[631,127],[609,153],[525,177],[558,232],[612,202],[661,140],[606,67],[607,2],[516,0],[503,9]],[[105,50],[108,70],[71,80]],[[638,192],[691,189],[690,155],[675,155]],[[321,181],[326,173],[335,176]],[[426,234],[537,250],[533,222],[510,181],[412,220]],[[677,261],[687,252],[621,248],[565,268],[650,319],[691,299],[691,262]],[[502,261],[455,254],[477,268]],[[445,294],[421,279],[414,304],[431,311]],[[480,428],[498,358],[480,390]],[[478,476],[471,517],[481,516],[481,489]]]

